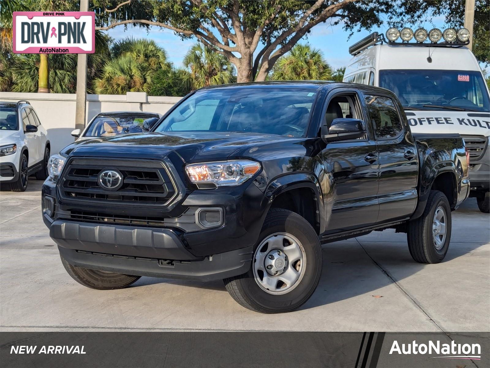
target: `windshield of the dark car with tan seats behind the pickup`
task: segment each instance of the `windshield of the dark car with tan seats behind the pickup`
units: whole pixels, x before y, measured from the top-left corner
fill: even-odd
[[[89,125],[83,136],[85,137],[111,137],[127,133],[141,133],[143,122],[154,118],[151,114],[107,114],[98,115]]]

